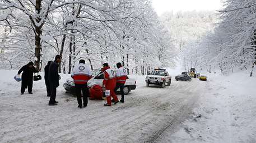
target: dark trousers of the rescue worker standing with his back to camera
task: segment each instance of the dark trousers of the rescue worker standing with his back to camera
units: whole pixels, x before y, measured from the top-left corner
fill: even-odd
[[[89,89],[87,84],[75,84],[76,88],[76,97],[78,106],[82,107],[82,97],[81,97],[81,90],[83,92],[83,106],[87,106],[88,103],[88,96],[89,96]]]

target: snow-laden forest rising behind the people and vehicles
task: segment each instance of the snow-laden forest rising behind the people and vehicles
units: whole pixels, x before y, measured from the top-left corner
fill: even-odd
[[[251,70],[256,58],[256,4],[227,0],[217,11],[166,12],[157,16],[149,0],[0,1],[0,68],[35,61],[41,68],[63,57],[70,73],[86,59],[91,69],[122,62],[129,74],[155,67],[184,70]]]

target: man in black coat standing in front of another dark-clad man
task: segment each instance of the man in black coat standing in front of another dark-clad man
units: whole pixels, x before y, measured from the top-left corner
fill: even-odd
[[[61,62],[61,56],[56,55],[55,56],[55,61],[50,64],[49,67],[49,83],[50,83],[50,101],[49,105],[54,106],[57,105],[57,101],[55,101],[56,98],[56,91],[57,87],[59,86],[59,72],[58,72],[58,63]]]

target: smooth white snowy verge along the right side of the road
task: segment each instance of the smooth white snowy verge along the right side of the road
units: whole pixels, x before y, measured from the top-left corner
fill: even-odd
[[[210,76],[190,119],[165,142],[256,142],[256,77]]]

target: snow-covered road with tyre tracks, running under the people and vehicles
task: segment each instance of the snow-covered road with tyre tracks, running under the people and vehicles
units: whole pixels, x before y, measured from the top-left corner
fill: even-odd
[[[89,101],[85,109],[62,86],[59,105],[48,106],[43,80],[35,82],[34,95],[20,95],[19,84],[8,82],[0,91],[0,142],[161,142],[190,116],[207,87],[198,80],[146,87],[144,77],[135,78],[138,87],[125,103]]]

